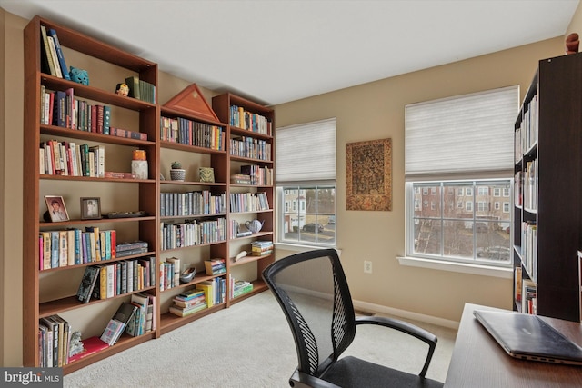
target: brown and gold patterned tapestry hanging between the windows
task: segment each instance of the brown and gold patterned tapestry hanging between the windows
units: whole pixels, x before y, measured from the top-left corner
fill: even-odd
[[[346,144],[346,209],[392,210],[392,139]]]

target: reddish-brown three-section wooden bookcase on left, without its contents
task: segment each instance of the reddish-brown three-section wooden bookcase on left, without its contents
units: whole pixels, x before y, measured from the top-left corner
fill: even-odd
[[[88,70],[90,83],[81,85],[64,78],[50,75],[42,63],[43,37],[41,25],[55,29],[60,45],[67,59],[67,65]],[[76,65],[82,64],[82,65]],[[113,346],[81,360],[63,366],[64,373],[71,373],[90,363],[104,359],[139,343],[153,340],[164,333],[184,324],[191,323],[209,313],[229,307],[255,293],[266,290],[260,273],[274,260],[274,254],[265,256],[248,255],[236,261],[234,257],[241,250],[251,251],[251,243],[256,240],[274,240],[274,189],[273,184],[231,184],[230,176],[237,172],[241,164],[255,164],[274,169],[274,129],[275,117],[272,109],[252,101],[226,94],[217,96],[213,108],[196,113],[195,109],[180,109],[176,104],[145,102],[132,97],[115,94],[115,85],[125,77],[136,76],[140,80],[158,87],[157,65],[146,59],[127,54],[115,46],[105,44],[65,25],[56,24],[40,16],[25,27],[25,144],[24,144],[24,230],[23,230],[23,359],[25,366],[40,366],[38,324],[41,318],[54,314],[62,316],[80,331],[82,338],[100,336],[117,307],[129,302],[135,293],[146,293],[155,301],[153,330],[130,336],[124,333]],[[54,124],[41,124],[41,90],[72,90],[75,99],[87,104],[101,104],[111,107],[111,126],[135,133],[146,134],[145,139],[118,137],[112,134],[72,129]],[[196,88],[196,87],[195,87]],[[197,89],[197,88],[196,88]],[[177,91],[176,91],[177,92]],[[189,92],[189,90],[188,90]],[[179,97],[179,98],[178,98]],[[172,100],[182,100],[176,95]],[[186,95],[187,98],[187,95]],[[261,114],[269,121],[269,134],[255,133],[229,123],[229,105],[238,104],[253,114]],[[217,118],[216,118],[217,116]],[[163,119],[186,120],[193,125],[212,127],[216,134],[222,133],[222,145],[194,144],[177,142],[163,136]],[[271,154],[262,157],[233,155],[230,139],[246,138],[268,144]],[[146,152],[148,163],[147,179],[131,177],[113,178],[98,176],[72,176],[66,174],[41,174],[39,144],[57,140],[76,144],[100,145],[105,149],[105,171],[127,173],[131,171],[132,155],[136,149]],[[218,143],[216,143],[218,144]],[[179,161],[186,169],[184,181],[171,181],[169,169],[174,161]],[[198,176],[200,167],[214,169],[214,182],[201,182]],[[187,193],[206,193],[222,195],[226,199],[224,210],[196,214],[162,213],[165,204],[163,194],[182,195]],[[232,211],[229,204],[231,193],[264,193],[268,208],[256,211]],[[59,223],[44,219],[46,210],[45,195],[62,196],[69,220]],[[99,197],[102,215],[109,212],[146,212],[145,216],[126,216],[121,218],[82,219],[79,199]],[[164,210],[164,212],[166,212]],[[231,235],[230,224],[238,221],[244,225],[246,220],[259,219],[263,228],[258,234],[243,237]],[[167,248],[162,241],[162,230],[167,224],[203,224],[208,222],[226,225],[219,237],[190,245]],[[148,243],[147,252],[117,257],[97,263],[78,263],[44,268],[40,264],[39,234],[69,228],[82,229],[98,227],[100,230],[115,230],[117,242],[141,240]],[[244,226],[242,227],[244,229]],[[218,235],[218,234],[216,234]],[[204,234],[206,238],[206,234]],[[81,303],[76,299],[77,288],[85,268],[95,264],[118,264],[128,260],[143,260],[154,257],[156,268],[152,284],[129,293],[118,293],[105,299],[91,299]],[[196,266],[196,276],[184,284],[162,287],[161,269],[168,259],[179,259],[180,272],[185,267]],[[226,273],[208,275],[205,261],[213,258],[226,260]],[[157,271],[160,270],[158,273]],[[158,276],[158,274],[160,276]],[[232,297],[232,279],[246,280],[253,284],[252,292]],[[192,313],[185,317],[169,312],[173,299],[206,281],[222,281],[224,295],[210,308]],[[162,289],[164,288],[164,289]]]

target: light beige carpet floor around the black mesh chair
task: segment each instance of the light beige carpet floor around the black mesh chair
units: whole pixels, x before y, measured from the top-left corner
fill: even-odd
[[[427,376],[445,381],[457,332],[416,323],[437,334]],[[417,373],[426,348],[381,327],[358,326],[349,354]],[[66,387],[288,387],[296,350],[270,292],[189,323],[159,339],[65,376]]]

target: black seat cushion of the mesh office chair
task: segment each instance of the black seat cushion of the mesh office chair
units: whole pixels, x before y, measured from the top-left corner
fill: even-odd
[[[343,388],[440,388],[443,386],[443,383],[437,382],[436,380],[397,371],[396,369],[376,363],[368,363],[351,356],[339,359],[320,378]]]

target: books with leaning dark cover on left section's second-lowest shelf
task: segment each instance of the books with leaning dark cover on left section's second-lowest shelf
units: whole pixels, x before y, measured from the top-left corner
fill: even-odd
[[[85,267],[76,298],[89,303],[91,299],[108,299],[133,293],[156,283],[156,258],[122,260],[111,264]]]

